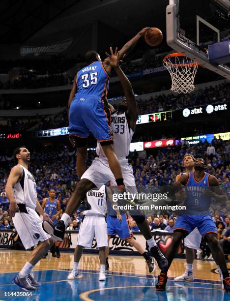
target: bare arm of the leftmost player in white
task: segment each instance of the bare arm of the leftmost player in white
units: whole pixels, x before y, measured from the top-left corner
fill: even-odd
[[[19,165],[14,166],[10,171],[7,183],[5,185],[5,192],[10,202],[9,205],[10,217],[14,217],[15,213],[19,211],[18,205],[14,198],[13,187],[21,179],[22,174],[23,174],[22,167],[20,167]]]

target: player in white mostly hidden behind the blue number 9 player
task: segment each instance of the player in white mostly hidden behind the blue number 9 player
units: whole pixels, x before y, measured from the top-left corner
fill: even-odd
[[[186,154],[183,157],[183,166],[185,168],[184,174],[189,174],[190,172],[194,172],[194,162],[195,157],[192,154]],[[179,181],[180,177],[183,175],[177,175],[175,181]],[[215,194],[215,198],[222,198],[222,196],[218,196]],[[178,276],[174,278],[174,281],[193,281],[193,262],[195,253],[194,250],[200,249],[201,244],[201,234],[198,230],[198,228],[195,228],[191,233],[189,233],[188,236],[184,239],[184,246],[185,246],[185,257],[186,257],[186,271],[183,273],[183,275]],[[222,271],[220,270],[220,267],[217,265],[218,271],[221,276],[221,283],[223,283],[223,276]]]

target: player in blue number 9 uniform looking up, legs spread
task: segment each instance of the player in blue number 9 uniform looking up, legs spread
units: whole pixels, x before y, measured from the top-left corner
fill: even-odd
[[[184,201],[187,212],[177,216],[173,241],[166,252],[169,264],[167,269],[162,269],[158,276],[156,290],[165,290],[168,279],[167,271],[175,257],[180,241],[197,227],[203,238],[207,241],[215,262],[220,266],[224,278],[224,289],[230,293],[230,276],[225,255],[217,241],[216,225],[209,215],[212,194],[222,196],[223,191],[219,187],[217,179],[205,173],[204,168],[204,160],[201,158],[196,159],[194,172],[182,175],[179,181],[174,184],[180,189],[177,192],[177,198],[180,201]],[[182,185],[185,186],[185,190],[182,189]]]

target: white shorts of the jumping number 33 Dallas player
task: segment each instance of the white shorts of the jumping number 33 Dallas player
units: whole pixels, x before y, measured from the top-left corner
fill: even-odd
[[[129,165],[128,159],[118,158],[121,166],[121,171],[124,179],[126,191],[130,193],[136,193],[135,179],[133,176],[132,165]],[[93,160],[91,166],[83,174],[82,179],[88,179],[93,182],[98,188],[104,185],[108,181],[112,181],[116,186],[115,177],[110,170],[107,159],[97,157]]]

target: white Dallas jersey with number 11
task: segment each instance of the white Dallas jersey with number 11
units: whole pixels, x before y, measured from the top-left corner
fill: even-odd
[[[102,185],[99,189],[89,190],[86,194],[87,201],[90,204],[90,210],[85,211],[85,215],[105,215],[107,211],[106,186]]]

